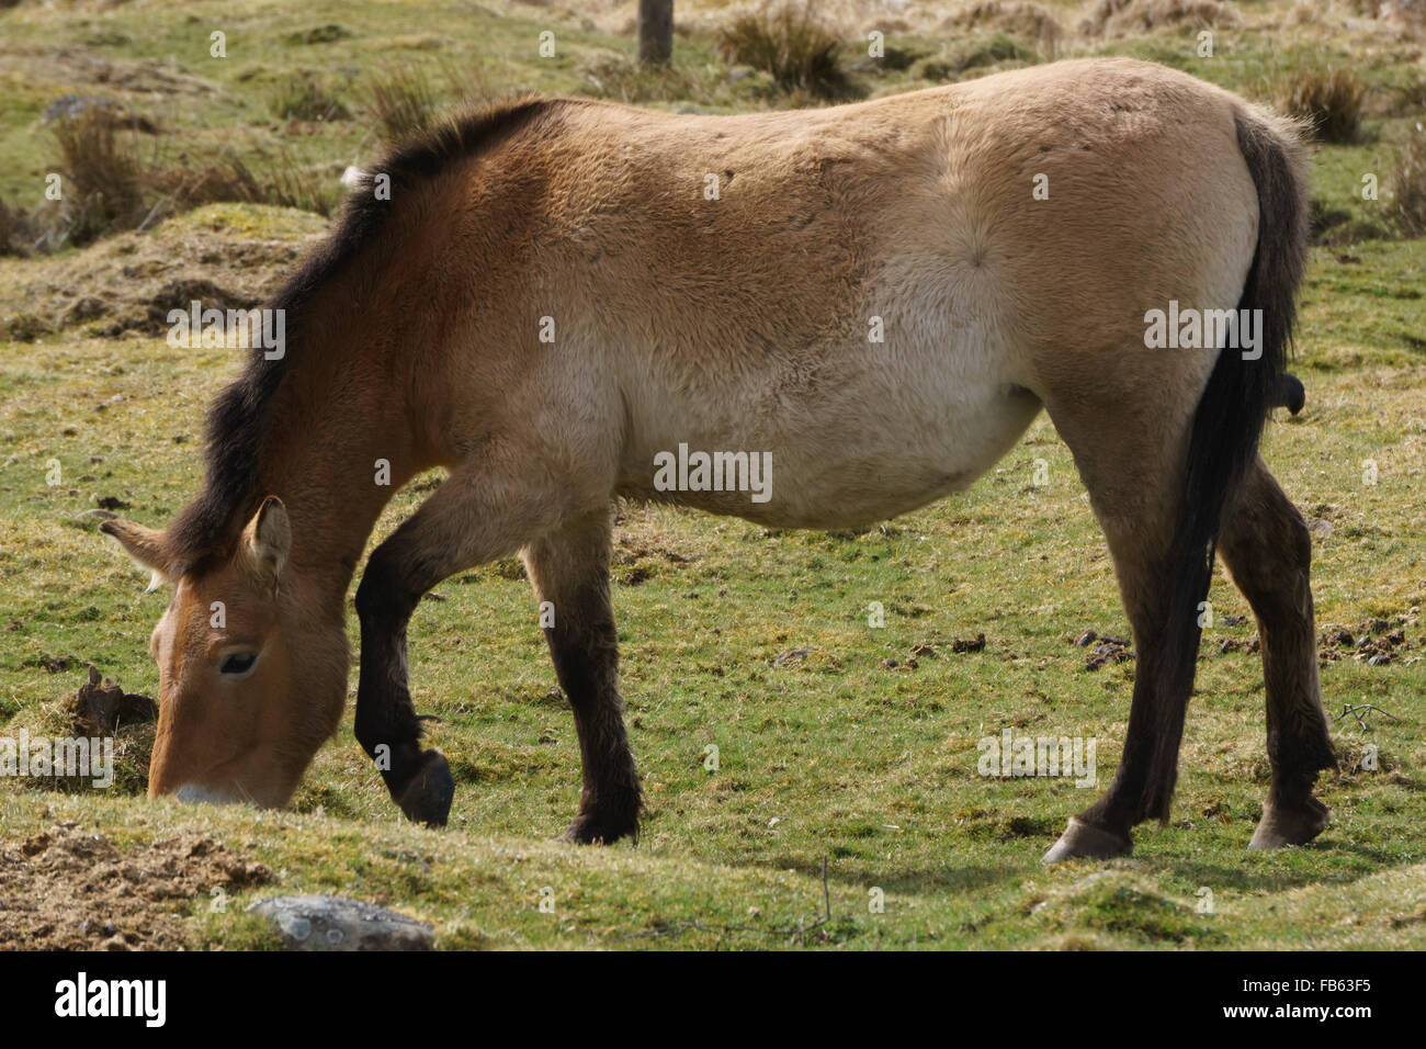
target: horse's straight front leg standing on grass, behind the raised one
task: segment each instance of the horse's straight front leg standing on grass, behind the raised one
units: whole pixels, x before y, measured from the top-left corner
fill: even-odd
[[[545,638],[575,711],[585,788],[565,831],[573,842],[639,832],[639,774],[619,698],[619,638],[609,598],[607,508],[576,518],[522,551],[546,618]],[[546,604],[548,602],[548,604]]]

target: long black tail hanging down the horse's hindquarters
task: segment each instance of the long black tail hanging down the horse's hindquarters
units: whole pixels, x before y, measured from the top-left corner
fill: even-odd
[[[1155,681],[1189,682],[1184,702],[1164,702],[1141,818],[1168,821],[1176,778],[1184,712],[1192,689],[1201,641],[1199,605],[1208,597],[1224,512],[1258,458],[1268,412],[1282,400],[1288,351],[1296,320],[1296,290],[1308,255],[1306,180],[1295,128],[1288,121],[1241,108],[1235,117],[1238,148],[1258,187],[1258,247],[1239,310],[1261,310],[1258,348],[1225,347],[1194,414],[1188,472],[1169,561],[1169,607],[1164,619],[1164,665],[1142,668]],[[1242,314],[1239,314],[1242,317]],[[1169,685],[1171,688],[1174,685]]]

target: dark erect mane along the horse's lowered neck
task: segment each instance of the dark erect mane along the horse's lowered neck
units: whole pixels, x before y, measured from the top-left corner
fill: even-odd
[[[201,574],[218,558],[225,558],[247,524],[238,515],[255,510],[257,501],[267,494],[257,491],[262,434],[274,394],[302,355],[302,305],[376,238],[406,190],[489,148],[555,104],[553,100],[525,98],[448,120],[369,168],[368,177],[348,196],[335,230],[267,304],[285,311],[285,354],[270,361],[261,345],[254,347],[247,368],[208,411],[204,487],[168,531],[175,574]],[[386,200],[378,200],[374,193],[372,178],[378,174],[391,178]]]

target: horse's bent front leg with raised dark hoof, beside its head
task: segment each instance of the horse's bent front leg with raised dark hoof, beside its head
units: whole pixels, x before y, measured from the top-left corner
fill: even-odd
[[[446,822],[455,782],[439,751],[421,749],[406,688],[406,624],[421,597],[446,577],[508,557],[558,524],[560,498],[532,490],[525,478],[515,470],[462,467],[372,551],[356,588],[356,741],[416,822]]]

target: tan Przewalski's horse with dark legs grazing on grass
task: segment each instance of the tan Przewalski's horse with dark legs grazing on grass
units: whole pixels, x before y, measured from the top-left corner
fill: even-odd
[[[358,741],[402,812],[445,822],[406,622],[435,584],[519,551],[579,731],[566,838],[633,835],[615,497],[866,525],[967,487],[1044,407],[1138,649],[1114,782],[1047,858],[1125,853],[1168,818],[1215,547],[1262,637],[1272,785],[1252,843],[1322,829],[1308,531],[1258,457],[1306,250],[1291,126],[1168,69],[1067,61],[797,113],[525,101],[372,176],[271,303],[285,355],[254,351],[218,398],[201,495],[165,532],[104,524],[174,587],[151,795],[288,801],[342,714],[374,522],[442,465],[356,589]],[[1256,341],[1151,347],[1171,303],[1261,311]],[[770,498],[666,491],[679,445],[771,452]]]

